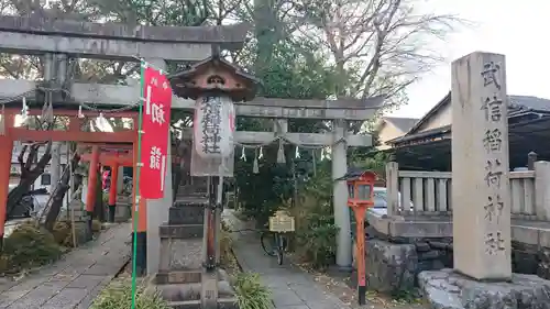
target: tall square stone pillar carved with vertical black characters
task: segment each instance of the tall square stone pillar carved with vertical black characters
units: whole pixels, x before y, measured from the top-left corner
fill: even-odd
[[[512,277],[505,66],[480,52],[452,63],[454,268],[479,280]]]

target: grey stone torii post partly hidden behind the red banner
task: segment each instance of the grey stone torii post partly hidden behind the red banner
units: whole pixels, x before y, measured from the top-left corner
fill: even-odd
[[[163,59],[145,60],[157,69],[166,69],[166,63]],[[147,200],[147,275],[158,272],[158,262],[161,258],[161,238],[158,228],[161,224],[168,222],[168,212],[173,201],[170,134],[168,134],[168,157],[166,162],[168,162],[168,164],[166,165],[164,198]]]

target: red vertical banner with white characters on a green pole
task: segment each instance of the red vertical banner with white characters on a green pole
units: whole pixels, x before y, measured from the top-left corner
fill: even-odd
[[[146,199],[164,197],[168,162],[172,88],[160,70],[145,67],[142,76],[143,110],[140,172],[140,196]]]

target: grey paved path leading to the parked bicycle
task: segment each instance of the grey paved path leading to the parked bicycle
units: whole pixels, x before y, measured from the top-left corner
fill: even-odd
[[[232,230],[244,228],[231,210],[223,213]],[[349,309],[338,297],[327,293],[314,277],[288,262],[277,265],[277,258],[267,256],[262,250],[255,232],[239,232],[233,251],[245,272],[258,273],[264,285],[273,293],[276,309]]]

